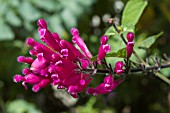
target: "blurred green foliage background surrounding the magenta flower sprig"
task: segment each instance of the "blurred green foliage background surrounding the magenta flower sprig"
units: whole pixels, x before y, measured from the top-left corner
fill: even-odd
[[[28,55],[29,48],[25,45],[25,39],[34,37],[39,41],[36,25],[39,18],[47,20],[50,30],[67,40],[71,39],[70,28],[78,27],[93,55],[97,54],[100,36],[105,34],[107,29],[109,30],[106,34],[112,37],[112,40],[109,40],[112,52],[125,47],[114,29],[109,28],[106,22],[108,17],[117,19],[118,23],[133,22],[133,25],[139,20],[136,29],[133,25],[121,26],[123,35],[126,35],[127,31],[135,31],[135,42],[139,45],[143,40],[147,40],[147,37],[163,31],[164,34],[150,47],[149,55],[156,52],[159,56],[163,53],[169,56],[170,51],[167,48],[170,47],[170,1],[148,0],[145,10],[146,1],[131,1],[135,1],[136,5],[129,3],[131,9],[124,12],[128,16],[121,20],[123,10],[115,4],[123,3],[124,7],[127,0],[0,0],[0,113],[170,112],[170,87],[152,73],[130,75],[115,91],[107,95],[91,97],[82,93],[77,104],[70,107],[65,106],[60,98],[55,98],[50,87],[33,93],[12,81],[13,75],[21,73],[25,67],[16,61],[18,55]],[[144,10],[141,18],[139,13],[136,14],[137,10]],[[93,24],[93,19],[99,23]],[[145,51],[137,46],[135,50],[140,56],[145,56]],[[114,64],[116,60],[112,58],[110,61]],[[170,69],[161,71],[167,77],[170,76]],[[93,86],[99,84],[103,76],[95,79],[97,80],[93,81]]]

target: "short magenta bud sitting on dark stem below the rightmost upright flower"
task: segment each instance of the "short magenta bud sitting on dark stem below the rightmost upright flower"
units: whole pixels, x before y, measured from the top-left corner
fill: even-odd
[[[124,66],[123,62],[120,61],[117,62],[114,68],[114,72],[118,75],[121,75],[124,72],[123,66]]]

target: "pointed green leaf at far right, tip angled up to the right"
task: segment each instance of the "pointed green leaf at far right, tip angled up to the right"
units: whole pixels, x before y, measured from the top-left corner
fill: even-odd
[[[152,44],[154,44],[156,39],[158,39],[158,37],[160,37],[162,34],[163,34],[163,32],[160,32],[157,35],[148,37],[147,39],[145,39],[141,42],[139,47],[150,48],[152,46]]]

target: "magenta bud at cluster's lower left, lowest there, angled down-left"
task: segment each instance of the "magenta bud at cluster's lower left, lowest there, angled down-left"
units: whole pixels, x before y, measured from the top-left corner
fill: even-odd
[[[42,89],[42,88],[46,87],[47,85],[49,85],[50,82],[51,82],[51,80],[49,78],[44,78],[39,83],[35,84],[32,87],[32,91],[38,92],[40,89]]]

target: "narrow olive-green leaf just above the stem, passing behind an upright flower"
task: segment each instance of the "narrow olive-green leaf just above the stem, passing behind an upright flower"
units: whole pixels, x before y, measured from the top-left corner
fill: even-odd
[[[97,59],[97,56],[94,56],[91,58],[91,61],[95,61]],[[110,52],[106,55],[106,57],[117,57],[117,58],[126,58],[126,48],[122,48],[118,50],[117,52]]]

